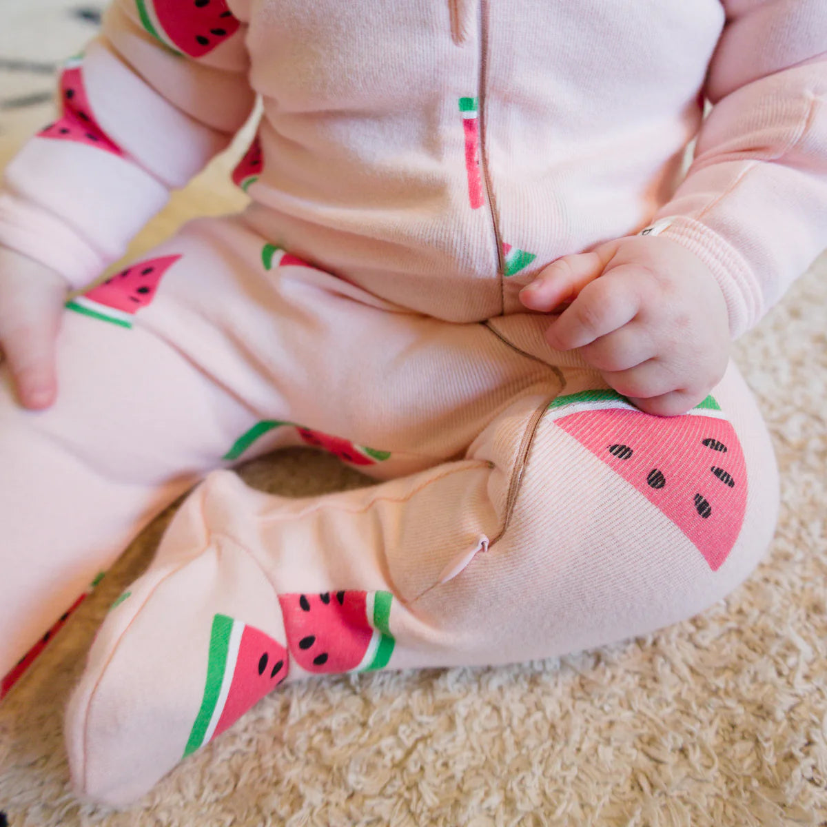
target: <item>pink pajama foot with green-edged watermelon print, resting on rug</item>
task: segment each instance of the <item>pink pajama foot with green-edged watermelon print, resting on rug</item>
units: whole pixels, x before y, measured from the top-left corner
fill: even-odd
[[[288,674],[275,590],[236,539],[205,523],[215,487],[204,483],[176,514],[89,652],[66,715],[82,796],[136,800]]]

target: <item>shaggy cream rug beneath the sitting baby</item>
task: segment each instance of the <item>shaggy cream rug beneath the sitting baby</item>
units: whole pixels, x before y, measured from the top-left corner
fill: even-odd
[[[48,64],[88,36],[94,17],[64,0],[3,5],[14,36],[0,31],[0,164],[48,119]],[[61,26],[62,40],[53,36]],[[35,31],[51,34],[32,40]],[[25,54],[26,33],[43,65]],[[230,166],[218,160],[176,195],[132,252],[197,211],[243,203],[227,184]],[[735,347],[772,429],[783,504],[766,562],[728,600],[647,638],[562,659],[289,686],[114,812],[69,793],[61,710],[94,629],[146,566],[167,513],[0,705],[8,824],[827,824],[825,308],[822,257]],[[243,476],[285,495],[365,484],[298,449]]]

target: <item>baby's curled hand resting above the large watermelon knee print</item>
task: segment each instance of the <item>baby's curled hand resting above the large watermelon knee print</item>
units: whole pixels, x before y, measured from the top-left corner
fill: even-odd
[[[520,300],[559,313],[547,342],[561,351],[579,347],[614,390],[649,414],[685,414],[724,375],[724,294],[706,265],[676,241],[631,236],[563,256],[523,288]]]

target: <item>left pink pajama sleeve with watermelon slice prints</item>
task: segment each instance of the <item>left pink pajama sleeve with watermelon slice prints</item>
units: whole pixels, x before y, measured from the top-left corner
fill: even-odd
[[[112,3],[65,65],[57,121],[5,171],[0,245],[74,288],[122,256],[251,112],[241,2]]]

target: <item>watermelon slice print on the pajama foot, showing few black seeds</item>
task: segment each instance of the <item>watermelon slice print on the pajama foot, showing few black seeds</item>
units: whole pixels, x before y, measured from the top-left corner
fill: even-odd
[[[287,649],[255,626],[216,614],[210,634],[203,700],[184,757],[222,734],[284,681]]]

